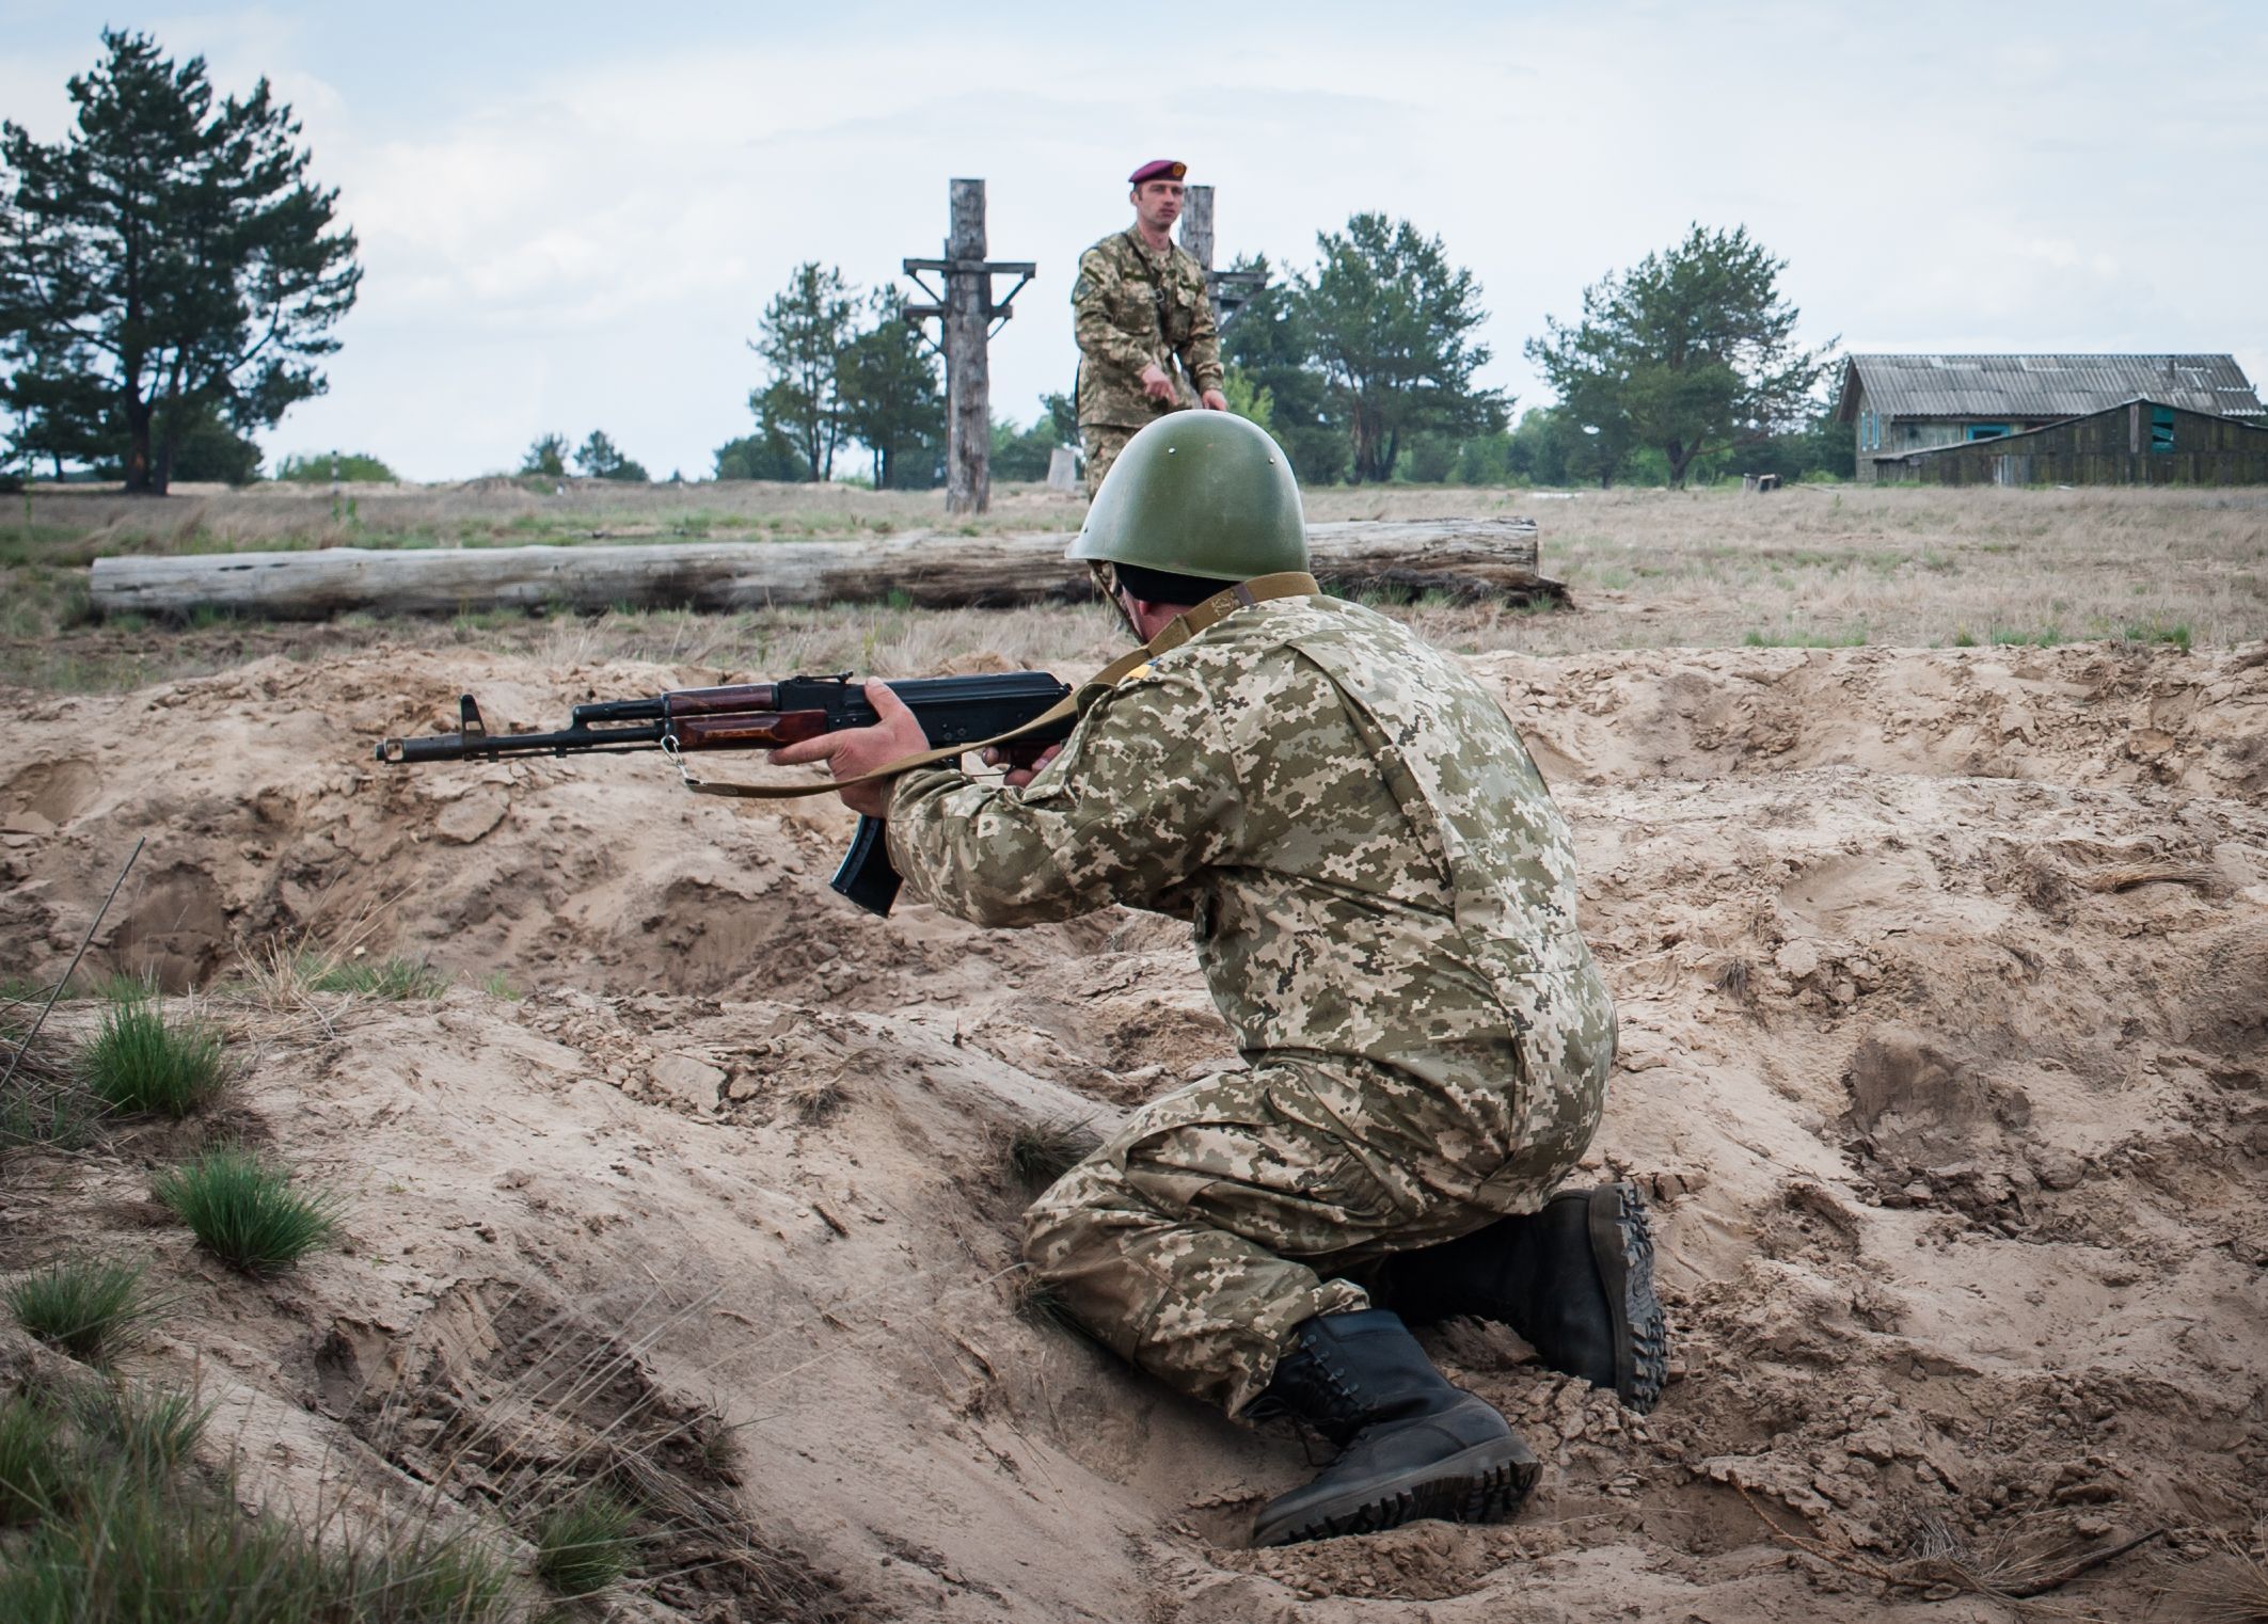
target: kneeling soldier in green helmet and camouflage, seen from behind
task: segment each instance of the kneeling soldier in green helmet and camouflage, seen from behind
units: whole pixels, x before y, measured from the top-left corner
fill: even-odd
[[[1538,1461],[1408,1320],[1504,1320],[1640,1411],[1667,1379],[1637,1189],[1558,1189],[1615,1059],[1567,821],[1483,683],[1315,585],[1243,417],[1134,435],[1070,556],[1143,651],[1036,769],[891,776],[928,739],[882,683],[878,726],[773,760],[857,780],[905,889],[971,923],[1191,923],[1245,1064],[1134,1111],[1025,1213],[1025,1257],[1182,1393],[1338,1445],[1254,1542],[1499,1517]]]

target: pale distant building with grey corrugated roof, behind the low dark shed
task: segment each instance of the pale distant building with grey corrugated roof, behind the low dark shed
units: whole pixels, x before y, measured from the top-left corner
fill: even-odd
[[[1857,479],[1871,485],[1912,476],[1912,451],[1998,440],[2130,401],[2268,417],[2236,356],[1851,356],[1835,417],[1855,424]]]

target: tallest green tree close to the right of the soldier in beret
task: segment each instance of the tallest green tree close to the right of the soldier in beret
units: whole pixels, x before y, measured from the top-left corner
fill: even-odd
[[[1470,270],[1449,265],[1438,236],[1359,213],[1345,234],[1318,234],[1315,247],[1322,263],[1300,279],[1295,304],[1322,365],[1329,415],[1347,431],[1356,483],[1388,479],[1417,435],[1461,438],[1504,424],[1508,401],[1472,383],[1488,361],[1488,345],[1472,340],[1488,320],[1481,288]]]

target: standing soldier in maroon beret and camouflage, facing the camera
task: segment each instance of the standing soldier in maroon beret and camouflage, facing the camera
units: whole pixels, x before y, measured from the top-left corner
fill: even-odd
[[[1134,170],[1134,225],[1080,254],[1070,284],[1089,497],[1145,424],[1191,406],[1229,408],[1204,265],[1173,240],[1186,172],[1173,159]]]

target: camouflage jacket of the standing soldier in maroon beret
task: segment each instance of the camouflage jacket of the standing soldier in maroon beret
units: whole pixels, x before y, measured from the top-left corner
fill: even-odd
[[[1102,238],[1080,254],[1070,308],[1080,336],[1080,422],[1139,429],[1220,388],[1220,331],[1204,268],[1177,243],[1154,254],[1134,227]],[[1177,401],[1143,395],[1141,370],[1152,361],[1166,367]]]

